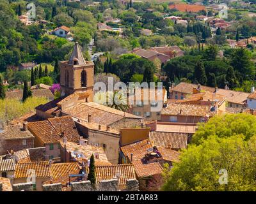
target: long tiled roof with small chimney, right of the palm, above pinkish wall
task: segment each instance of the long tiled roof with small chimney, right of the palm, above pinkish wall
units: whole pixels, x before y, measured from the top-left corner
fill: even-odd
[[[210,105],[168,103],[167,107],[161,110],[161,115],[210,117],[216,114],[216,110],[211,111],[211,107]]]

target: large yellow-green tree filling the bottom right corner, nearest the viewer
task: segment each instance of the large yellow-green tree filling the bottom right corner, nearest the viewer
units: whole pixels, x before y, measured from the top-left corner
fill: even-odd
[[[172,170],[164,169],[163,190],[255,191],[255,145],[255,136],[247,142],[239,135],[211,136],[191,145]]]

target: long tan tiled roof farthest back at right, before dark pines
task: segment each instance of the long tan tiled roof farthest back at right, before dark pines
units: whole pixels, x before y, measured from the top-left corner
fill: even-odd
[[[170,91],[182,92],[185,94],[193,94],[193,88],[197,87],[196,84],[189,84],[186,82],[180,82],[180,84],[171,88]],[[207,87],[204,85],[200,85],[200,89],[203,91],[214,92],[214,87]],[[244,105],[246,102],[246,98],[250,95],[250,93],[241,92],[241,91],[232,91],[229,89],[217,89],[216,94],[220,94],[225,96],[227,101],[230,103],[237,103],[240,105]]]

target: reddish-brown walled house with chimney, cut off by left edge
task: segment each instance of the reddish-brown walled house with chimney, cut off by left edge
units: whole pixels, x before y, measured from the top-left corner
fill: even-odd
[[[33,148],[35,137],[28,131],[28,124],[17,124],[4,126],[0,132],[0,155],[6,154],[11,150],[19,151],[22,149]]]

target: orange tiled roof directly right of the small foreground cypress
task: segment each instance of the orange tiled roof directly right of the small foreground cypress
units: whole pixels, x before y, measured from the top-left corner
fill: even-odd
[[[96,182],[111,180],[118,174],[118,185],[125,186],[127,179],[136,179],[133,164],[115,164],[109,166],[95,166]]]

